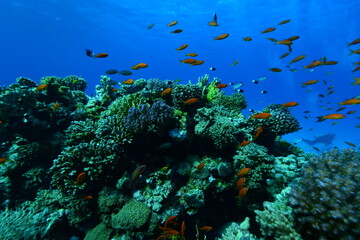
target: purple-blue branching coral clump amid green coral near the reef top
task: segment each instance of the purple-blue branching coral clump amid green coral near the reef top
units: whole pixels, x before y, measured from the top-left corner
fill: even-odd
[[[138,108],[131,108],[122,123],[125,131],[134,135],[168,130],[174,127],[174,109],[163,101],[152,106],[141,104]]]

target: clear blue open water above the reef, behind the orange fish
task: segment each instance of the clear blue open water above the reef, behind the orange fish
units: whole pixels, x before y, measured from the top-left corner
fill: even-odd
[[[56,75],[78,75],[88,83],[87,93],[94,93],[100,76],[108,69],[129,69],[136,63],[145,62],[146,69],[134,71],[132,78],[181,79],[196,82],[199,76],[210,74],[223,83],[242,81],[248,108],[260,110],[270,103],[297,101],[292,109],[303,127],[297,133],[285,136],[291,142],[300,138],[312,139],[324,133],[335,133],[334,146],[348,147],[344,141],[360,143],[360,124],[357,119],[360,105],[347,106],[341,112],[358,111],[339,120],[316,123],[316,116],[334,113],[339,102],[360,94],[360,86],[351,85],[352,77],[360,77],[360,71],[352,73],[353,62],[359,55],[347,56],[346,43],[360,37],[360,4],[357,1],[307,0],[307,1],[162,1],[162,0],[17,0],[0,2],[0,85],[9,85],[19,76],[39,82],[41,77]],[[219,27],[209,27],[216,12]],[[282,20],[290,23],[276,26]],[[166,25],[177,20],[177,26]],[[155,23],[148,30],[147,26]],[[277,30],[260,34],[268,27]],[[181,28],[180,34],[170,31]],[[215,41],[213,37],[230,33],[230,37]],[[285,39],[294,35],[293,52],[284,59],[279,56],[287,51],[286,46],[274,45],[266,37]],[[245,42],[243,37],[253,41]],[[177,52],[182,44],[189,47]],[[105,52],[108,58],[94,59],[85,55],[84,48],[96,53]],[[358,49],[353,46],[352,49]],[[179,60],[187,52],[196,52],[198,59],[205,60],[201,66],[181,65]],[[299,72],[290,72],[285,67],[296,56],[307,57],[293,64]],[[336,60],[334,66],[320,66],[313,72],[302,70],[302,66],[326,56]],[[234,60],[240,62],[231,66]],[[215,67],[216,71],[210,71]],[[271,67],[283,69],[270,72]],[[334,72],[332,75],[326,75]],[[251,82],[260,76],[268,78],[258,85]],[[126,80],[116,75],[114,80]],[[301,82],[317,79],[318,84],[307,88]],[[327,85],[323,84],[326,80]],[[321,103],[318,94],[335,85],[336,92],[325,97]],[[306,90],[313,89],[312,92]],[[267,94],[260,91],[266,90]],[[231,93],[232,89],[225,89]],[[327,103],[328,102],[328,103]],[[321,106],[334,107],[327,111]],[[303,112],[311,111],[309,119]],[[244,112],[244,114],[249,114]],[[313,130],[311,130],[313,129]],[[303,142],[299,146],[313,149]],[[322,146],[317,146],[321,150]]]

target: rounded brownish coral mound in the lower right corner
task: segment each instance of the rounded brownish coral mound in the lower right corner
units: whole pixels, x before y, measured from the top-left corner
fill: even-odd
[[[359,159],[352,149],[309,159],[289,198],[304,239],[360,239]]]

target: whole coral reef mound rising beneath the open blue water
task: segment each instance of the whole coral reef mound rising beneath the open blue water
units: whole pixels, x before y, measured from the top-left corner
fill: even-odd
[[[98,56],[99,57],[99,56]],[[0,239],[360,239],[360,153],[304,153],[287,104],[102,76],[0,92]]]

